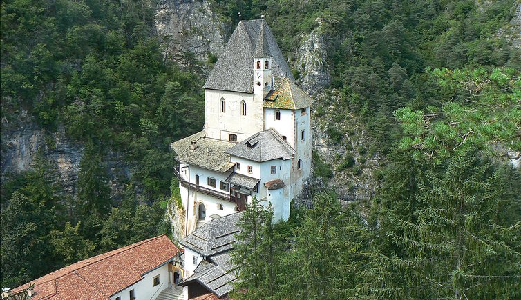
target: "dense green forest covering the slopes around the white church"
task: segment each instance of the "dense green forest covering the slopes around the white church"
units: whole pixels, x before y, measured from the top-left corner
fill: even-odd
[[[315,154],[316,174],[369,173],[381,186],[343,212],[322,194],[316,209],[267,226],[261,246],[274,251],[253,267],[270,271],[244,272],[247,297],[520,297],[520,169],[504,157],[521,151],[521,50],[502,34],[519,1],[210,2],[232,24],[264,14],[298,81],[314,80],[313,60],[328,74],[309,92],[319,130],[342,151]],[[187,54],[183,67],[165,59],[154,9],[2,1],[2,137],[23,110],[83,150],[76,194],[64,192],[43,149],[31,170],[3,181],[2,286],[168,231],[168,144],[201,128],[215,55]],[[299,47],[311,33],[325,55],[304,63]],[[370,139],[354,148],[362,130]],[[130,174],[111,197],[105,158],[115,152]],[[374,157],[382,166],[373,172]]]

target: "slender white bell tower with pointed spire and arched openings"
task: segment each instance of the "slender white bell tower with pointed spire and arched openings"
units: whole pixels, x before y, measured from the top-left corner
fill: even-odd
[[[258,41],[255,46],[254,52],[254,97],[261,98],[260,101],[264,100],[264,97],[273,88],[273,77],[272,77],[272,62],[273,57],[269,52],[269,46],[266,39],[266,22],[260,25],[260,32],[258,34]]]

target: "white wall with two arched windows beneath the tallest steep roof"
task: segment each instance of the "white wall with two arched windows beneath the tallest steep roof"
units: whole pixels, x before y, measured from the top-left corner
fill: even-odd
[[[220,99],[226,101],[221,112]],[[246,103],[246,115],[241,114],[241,101]],[[263,130],[263,103],[254,101],[254,94],[205,90],[205,130],[212,139],[228,141],[228,134],[237,134],[238,141]]]

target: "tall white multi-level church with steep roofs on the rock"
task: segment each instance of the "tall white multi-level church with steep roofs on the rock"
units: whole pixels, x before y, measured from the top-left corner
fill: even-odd
[[[313,100],[294,82],[263,20],[240,21],[205,83],[205,126],[171,143],[185,235],[245,210],[253,197],[275,221],[310,175]]]

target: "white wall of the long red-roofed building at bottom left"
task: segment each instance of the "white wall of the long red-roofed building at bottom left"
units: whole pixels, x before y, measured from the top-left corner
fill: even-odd
[[[159,275],[160,284],[153,286],[153,277]],[[173,279],[170,279],[173,280]],[[169,286],[169,274],[168,274],[168,263],[159,268],[152,270],[144,275],[144,278],[134,283],[132,286],[125,288],[124,290],[113,294],[110,297],[111,300],[115,300],[117,297],[121,297],[121,300],[130,300],[130,290],[134,290],[135,299],[151,299],[154,300],[158,297],[158,294],[168,288]]]

